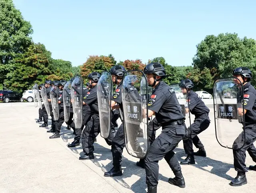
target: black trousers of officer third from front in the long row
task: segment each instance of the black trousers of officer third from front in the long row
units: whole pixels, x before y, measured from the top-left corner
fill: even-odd
[[[100,133],[100,117],[97,114],[92,115],[91,119],[88,121],[84,130],[82,131],[82,147],[86,155],[93,153],[94,151],[94,139]],[[113,133],[110,132],[108,139],[105,139],[108,145],[112,144]]]

